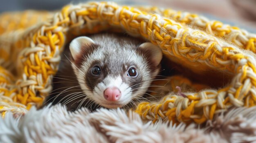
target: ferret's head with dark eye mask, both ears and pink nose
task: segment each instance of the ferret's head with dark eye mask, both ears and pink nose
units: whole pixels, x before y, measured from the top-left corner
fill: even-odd
[[[77,37],[70,43],[70,52],[81,89],[106,108],[141,98],[158,74],[162,59],[161,49],[152,43],[107,34]]]

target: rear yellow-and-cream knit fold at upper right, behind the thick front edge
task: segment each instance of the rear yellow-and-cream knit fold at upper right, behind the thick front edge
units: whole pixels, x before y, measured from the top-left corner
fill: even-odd
[[[171,18],[176,22],[184,23],[193,28],[202,29],[211,35],[224,38],[227,42],[232,42],[241,48],[256,53],[256,35],[249,33],[236,26],[223,24],[220,21],[209,20],[203,16],[193,13],[175,11],[173,9],[159,9],[157,7],[138,7],[147,13],[159,13],[160,15]]]

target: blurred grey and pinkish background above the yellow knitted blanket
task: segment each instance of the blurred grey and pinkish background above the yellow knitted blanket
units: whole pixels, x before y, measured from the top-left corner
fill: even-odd
[[[66,4],[89,0],[0,0],[0,13],[6,11],[57,10]],[[92,1],[92,0],[90,0]],[[97,0],[102,1],[102,0]],[[119,4],[153,5],[205,15],[209,19],[256,33],[256,0],[112,0]]]

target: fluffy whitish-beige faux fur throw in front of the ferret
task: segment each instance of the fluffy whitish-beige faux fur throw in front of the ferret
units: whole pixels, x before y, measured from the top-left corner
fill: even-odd
[[[22,117],[0,118],[0,143],[252,143],[256,142],[256,107],[237,108],[196,125],[143,122],[121,109],[86,108],[68,112],[60,105],[32,108]]]

